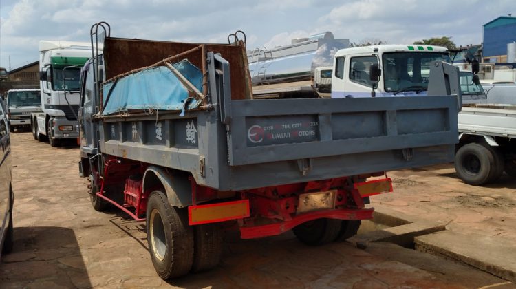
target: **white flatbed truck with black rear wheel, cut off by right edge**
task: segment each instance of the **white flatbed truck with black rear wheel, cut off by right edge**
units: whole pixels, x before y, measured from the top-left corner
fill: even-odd
[[[500,93],[504,90],[493,92],[497,85],[482,87],[473,72],[461,71],[460,82],[464,107],[458,115],[457,175],[472,185],[495,182],[504,171],[515,177],[515,99]]]

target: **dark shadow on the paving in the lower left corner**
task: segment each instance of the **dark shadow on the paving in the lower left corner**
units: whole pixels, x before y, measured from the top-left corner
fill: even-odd
[[[92,287],[76,235],[69,228],[15,227],[14,248],[2,261],[2,288]]]

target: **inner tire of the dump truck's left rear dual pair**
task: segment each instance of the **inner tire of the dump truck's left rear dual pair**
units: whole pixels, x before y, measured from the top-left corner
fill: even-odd
[[[201,272],[217,266],[222,257],[222,229],[219,224],[193,226],[192,272]]]

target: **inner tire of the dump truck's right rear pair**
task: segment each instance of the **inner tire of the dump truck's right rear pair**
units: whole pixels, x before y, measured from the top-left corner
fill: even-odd
[[[292,228],[299,241],[317,246],[334,242],[341,232],[342,220],[316,219]]]

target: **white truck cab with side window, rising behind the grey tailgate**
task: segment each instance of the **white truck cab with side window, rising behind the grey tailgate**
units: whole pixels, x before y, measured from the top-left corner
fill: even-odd
[[[334,58],[332,98],[425,96],[430,65],[451,63],[445,47],[433,45],[373,45],[338,50]],[[379,80],[371,81],[373,65]]]

